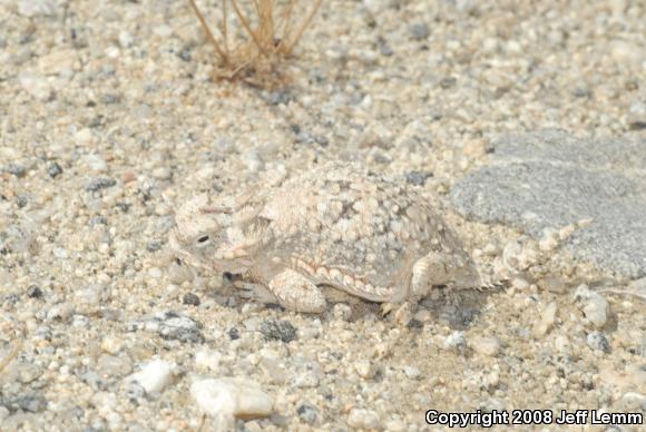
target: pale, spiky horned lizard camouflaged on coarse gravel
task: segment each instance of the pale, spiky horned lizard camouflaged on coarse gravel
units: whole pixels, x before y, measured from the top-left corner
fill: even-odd
[[[247,296],[320,313],[327,285],[405,320],[433,286],[471,288],[479,274],[458,237],[403,181],[329,163],[264,193],[176,213],[170,246],[186,263],[237,274]]]

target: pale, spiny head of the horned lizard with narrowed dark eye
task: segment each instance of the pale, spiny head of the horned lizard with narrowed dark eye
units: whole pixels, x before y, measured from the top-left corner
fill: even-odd
[[[243,273],[252,266],[244,233],[234,224],[233,208],[225,202],[209,204],[196,196],[175,214],[169,244],[189,265],[217,272]]]

